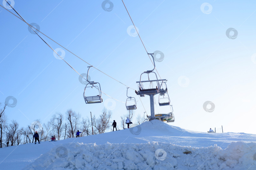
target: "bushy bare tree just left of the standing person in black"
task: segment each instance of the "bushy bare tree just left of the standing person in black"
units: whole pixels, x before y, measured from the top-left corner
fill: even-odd
[[[111,114],[112,112],[107,111],[107,109],[104,107],[100,118],[96,119],[95,116],[93,117],[93,126],[96,128],[95,134],[102,134],[107,128],[110,128],[109,119],[111,117]]]

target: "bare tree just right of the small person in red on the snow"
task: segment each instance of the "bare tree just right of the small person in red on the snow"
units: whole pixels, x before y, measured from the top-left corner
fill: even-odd
[[[62,130],[63,130],[63,115],[61,113],[55,113],[52,116],[52,128],[55,133],[58,135],[58,140],[60,140]]]

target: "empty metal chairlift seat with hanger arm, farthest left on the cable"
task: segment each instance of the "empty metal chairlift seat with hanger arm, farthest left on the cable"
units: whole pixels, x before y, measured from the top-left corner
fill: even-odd
[[[101,85],[100,83],[97,83],[97,82],[94,82],[94,81],[89,81],[88,80],[88,74],[89,74],[89,69],[91,68],[92,66],[88,66],[88,71],[87,71],[87,77],[86,77],[86,80],[89,82],[85,88],[84,88],[84,93],[83,93],[83,98],[84,98],[84,101],[86,104],[92,104],[92,103],[101,103],[103,100],[101,98]],[[88,89],[87,88],[96,88],[97,91],[98,91],[98,94],[99,95],[96,95],[96,96],[86,96],[85,95],[85,91],[87,91]],[[87,89],[87,90],[86,90]]]

